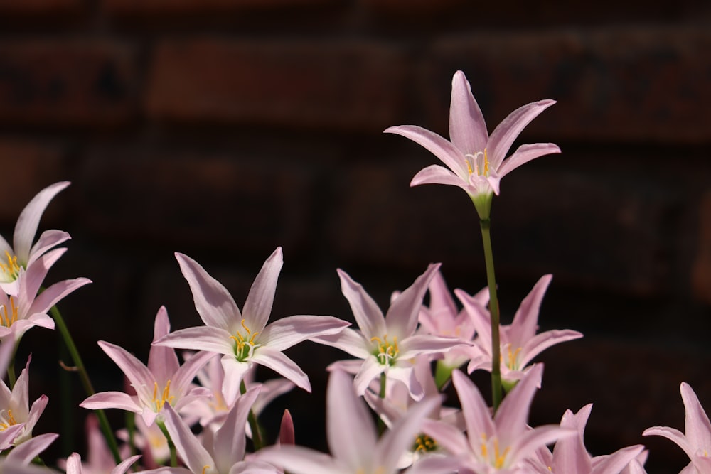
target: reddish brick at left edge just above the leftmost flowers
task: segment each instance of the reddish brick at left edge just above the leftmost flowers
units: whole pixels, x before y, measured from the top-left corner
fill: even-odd
[[[64,181],[65,153],[55,146],[46,146],[32,141],[0,140],[0,169],[11,185],[0,186],[0,221],[14,226],[25,205],[46,186]],[[60,201],[60,199],[57,199]],[[48,208],[48,217],[63,208],[53,203]],[[11,235],[5,235],[11,239]]]

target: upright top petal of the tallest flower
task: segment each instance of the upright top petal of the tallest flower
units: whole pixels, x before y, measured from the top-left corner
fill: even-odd
[[[449,102],[449,138],[462,153],[484,151],[488,132],[483,114],[471,94],[464,72],[457,71],[451,80]]]

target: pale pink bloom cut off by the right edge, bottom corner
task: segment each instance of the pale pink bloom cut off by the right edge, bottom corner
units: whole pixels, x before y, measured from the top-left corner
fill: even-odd
[[[681,399],[684,401],[686,416],[684,433],[668,426],[653,426],[644,430],[643,436],[664,436],[674,441],[689,456],[691,462],[682,471],[687,473],[711,473],[711,422],[699,402],[694,390],[686,382],[681,382]]]

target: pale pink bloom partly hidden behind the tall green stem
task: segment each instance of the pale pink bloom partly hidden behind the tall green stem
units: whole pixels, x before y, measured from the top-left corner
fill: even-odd
[[[530,293],[521,301],[513,316],[513,322],[500,327],[501,378],[505,382],[513,383],[523,377],[525,370],[528,370],[528,363],[550,346],[582,338],[581,333],[569,329],[548,330],[536,334],[540,303],[551,279],[552,275],[542,276]],[[478,334],[473,357],[467,370],[469,373],[478,369],[491,371],[491,314],[487,308],[481,305],[481,299],[469,296],[459,289],[454,293],[469,313]],[[477,351],[479,352],[478,356],[474,355],[474,352]]]

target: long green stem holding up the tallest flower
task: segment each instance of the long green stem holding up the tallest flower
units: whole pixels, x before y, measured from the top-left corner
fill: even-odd
[[[486,283],[489,288],[489,312],[491,313],[491,402],[496,413],[501,404],[501,340],[498,335],[498,298],[496,296],[496,274],[493,270],[493,252],[491,250],[491,220],[479,220],[481,239],[484,245],[486,262]]]

